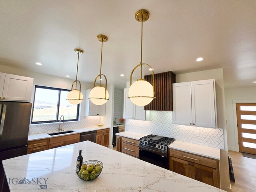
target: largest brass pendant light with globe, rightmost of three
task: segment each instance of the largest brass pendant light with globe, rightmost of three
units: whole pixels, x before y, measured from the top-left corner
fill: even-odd
[[[154,97],[154,71],[152,71],[152,85],[147,82],[145,79],[142,79],[142,65],[148,66],[150,69],[152,67],[146,63],[142,63],[142,32],[143,32],[143,22],[148,20],[149,18],[149,12],[147,10],[138,10],[135,14],[135,19],[138,22],[141,22],[141,49],[140,49],[140,64],[138,64],[131,73],[130,76],[130,88],[128,95],[135,105],[138,106],[145,106],[152,102]],[[132,74],[136,68],[140,66],[140,79],[138,79],[136,82],[132,84]]]

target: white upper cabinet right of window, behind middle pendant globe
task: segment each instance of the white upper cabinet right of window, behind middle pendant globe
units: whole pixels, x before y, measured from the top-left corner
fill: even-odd
[[[97,116],[106,114],[106,103],[103,105],[93,104],[89,98],[91,89],[85,92],[85,116]]]

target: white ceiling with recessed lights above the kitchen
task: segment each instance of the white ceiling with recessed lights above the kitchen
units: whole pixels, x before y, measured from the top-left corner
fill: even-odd
[[[142,60],[154,72],[222,67],[226,87],[255,86],[256,0],[1,0],[0,64],[74,80],[74,48],[81,48],[78,80],[93,82],[100,73],[96,37],[105,34],[102,73],[124,87],[140,62],[135,12],[142,8],[150,12]]]

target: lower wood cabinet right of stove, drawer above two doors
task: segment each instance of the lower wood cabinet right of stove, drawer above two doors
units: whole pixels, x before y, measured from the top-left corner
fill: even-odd
[[[169,149],[169,170],[220,188],[219,160]]]

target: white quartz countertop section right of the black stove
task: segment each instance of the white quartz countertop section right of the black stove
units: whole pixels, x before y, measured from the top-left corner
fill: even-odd
[[[168,148],[181,150],[209,158],[214,158],[220,160],[220,149],[214,147],[208,147],[183,141],[174,141],[171,143]]]

